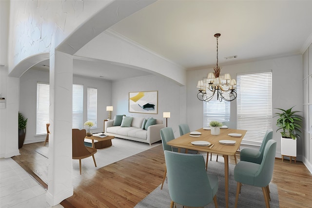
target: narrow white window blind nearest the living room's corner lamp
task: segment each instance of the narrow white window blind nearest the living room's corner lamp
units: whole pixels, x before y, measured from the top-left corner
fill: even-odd
[[[87,120],[93,121],[95,125],[92,129],[98,128],[98,89],[96,88],[87,88]]]

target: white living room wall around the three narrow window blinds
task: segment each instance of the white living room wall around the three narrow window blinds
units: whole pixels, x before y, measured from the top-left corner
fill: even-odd
[[[28,118],[24,144],[45,140],[45,135],[36,135],[36,96],[38,81],[49,83],[49,72],[29,69],[20,77],[20,113]],[[84,122],[87,120],[87,87],[98,89],[98,129],[94,129],[93,132],[102,132],[103,120],[108,117],[106,106],[111,105],[112,83],[101,79],[74,76],[73,84],[82,84],[84,86]],[[64,100],[64,102],[66,102],[66,100]]]

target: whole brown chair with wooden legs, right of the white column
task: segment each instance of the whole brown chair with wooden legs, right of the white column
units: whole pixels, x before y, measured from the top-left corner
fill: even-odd
[[[85,129],[78,130],[73,129],[73,159],[79,160],[79,169],[81,175],[81,159],[92,156],[94,165],[97,167],[96,159],[94,154],[97,153],[97,149],[84,146],[84,137],[86,137],[87,132]]]

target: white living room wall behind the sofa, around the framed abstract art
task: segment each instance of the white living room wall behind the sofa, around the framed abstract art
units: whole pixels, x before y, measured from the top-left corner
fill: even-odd
[[[180,136],[178,125],[186,122],[185,118],[185,95],[184,88],[175,81],[162,76],[147,76],[136,79],[113,82],[112,87],[112,105],[114,111],[112,117],[117,114],[126,114],[137,117],[154,117],[163,120],[163,112],[170,112],[168,118],[168,127],[172,127],[175,136]],[[129,92],[158,91],[158,113],[129,113]],[[182,99],[182,101],[181,101]]]

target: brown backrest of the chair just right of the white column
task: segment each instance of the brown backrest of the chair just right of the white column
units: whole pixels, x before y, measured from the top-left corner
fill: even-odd
[[[73,129],[72,130],[72,147],[73,147],[73,157],[81,157],[89,155],[90,151],[84,146],[84,137],[86,137],[87,132],[85,129]]]

